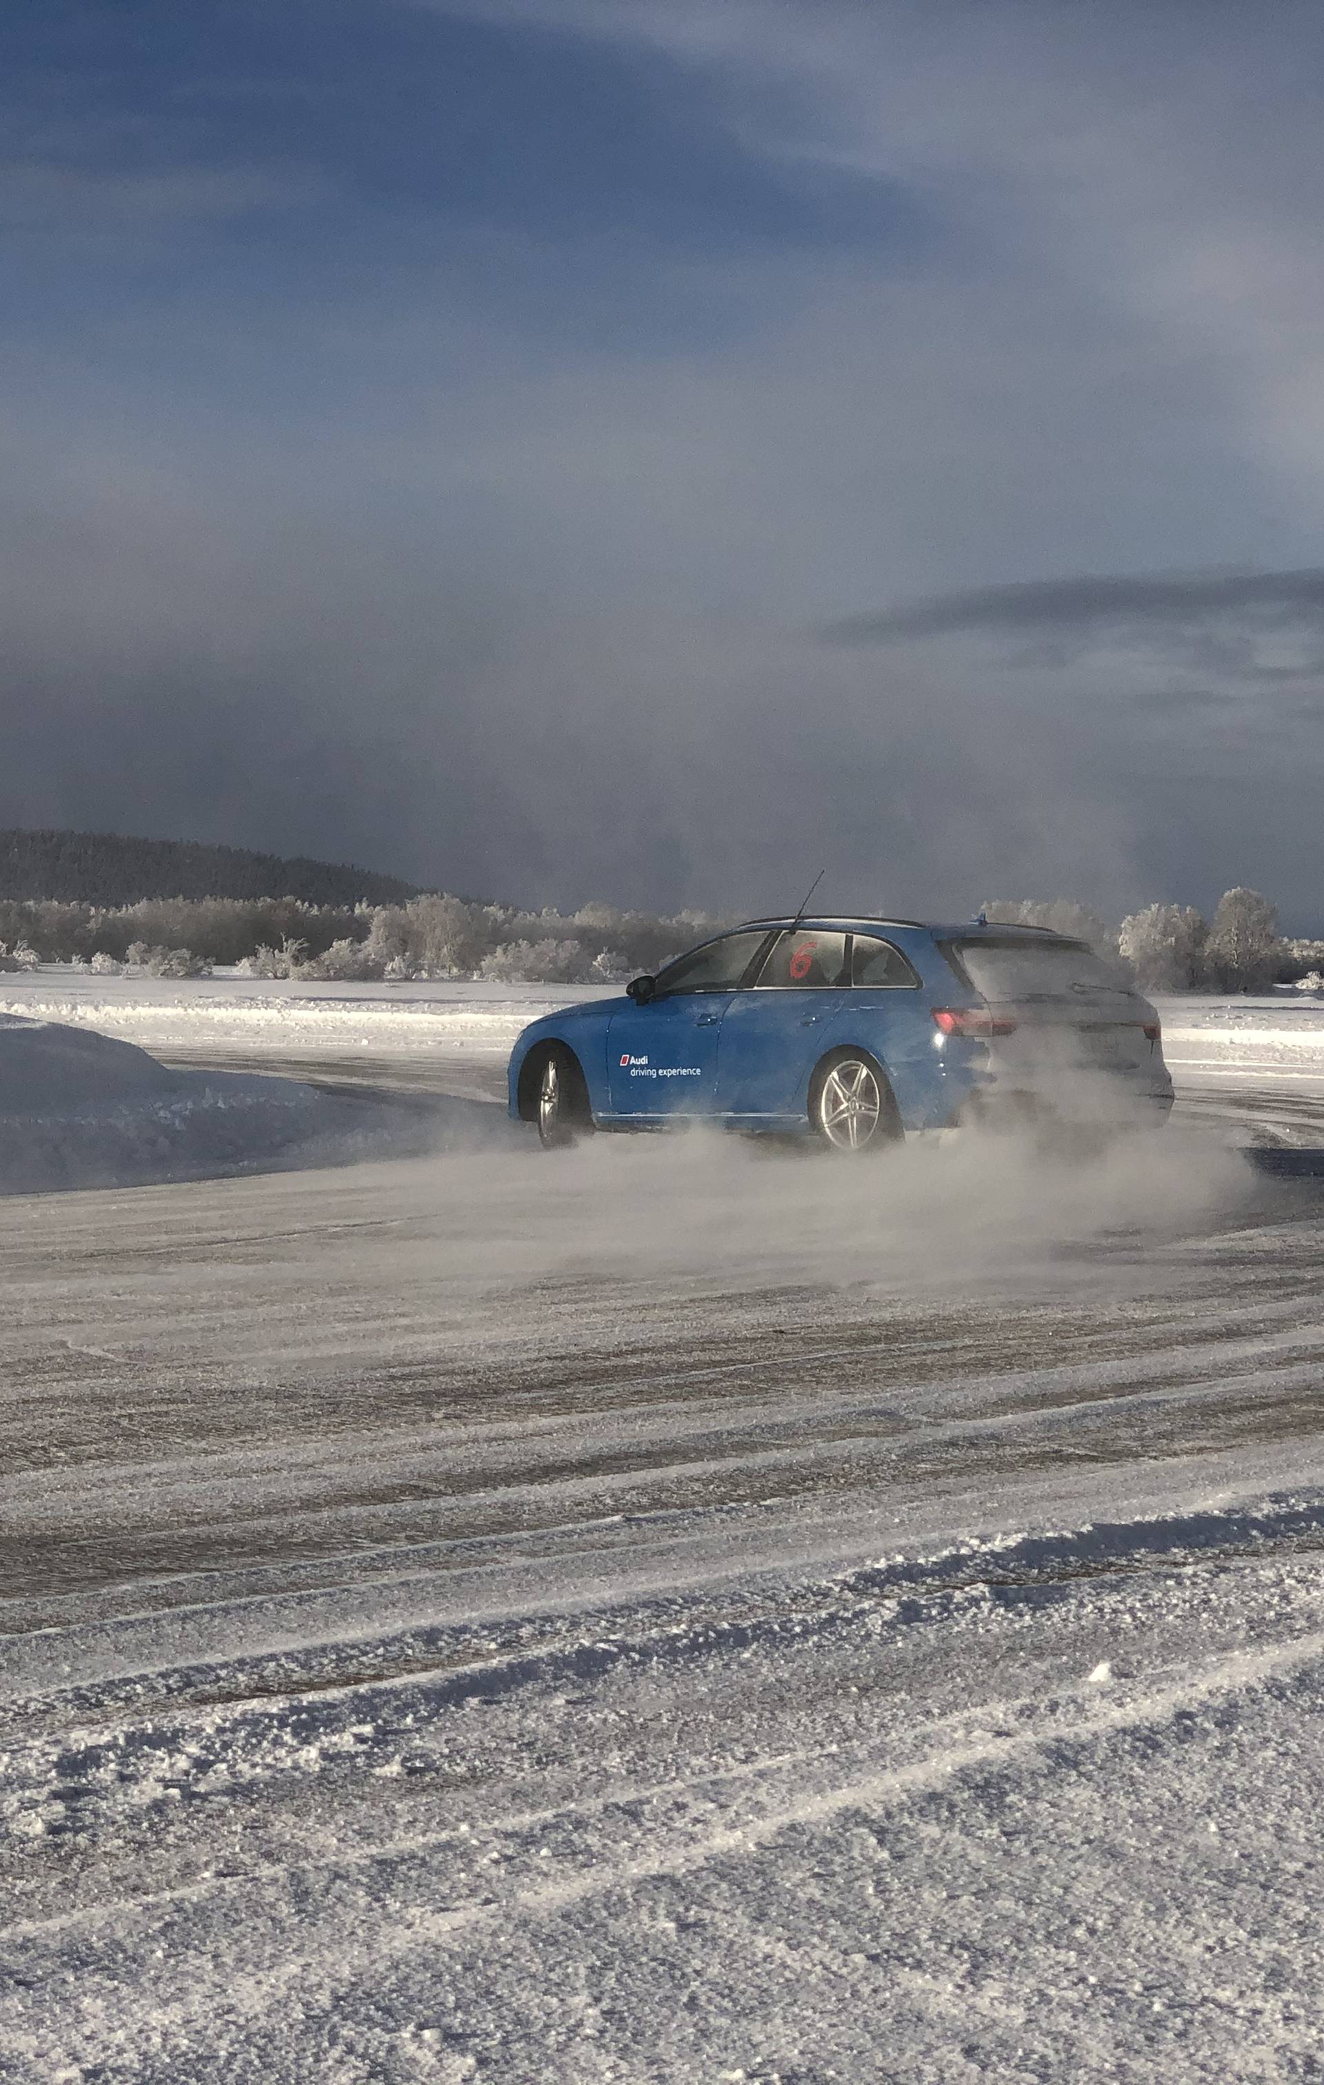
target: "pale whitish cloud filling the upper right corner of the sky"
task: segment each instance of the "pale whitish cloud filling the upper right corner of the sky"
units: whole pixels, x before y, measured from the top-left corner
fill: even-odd
[[[434,4],[651,46],[724,81],[753,148],[932,188],[995,265],[1130,325],[1138,371],[1218,392],[1224,442],[1324,519],[1318,8]]]

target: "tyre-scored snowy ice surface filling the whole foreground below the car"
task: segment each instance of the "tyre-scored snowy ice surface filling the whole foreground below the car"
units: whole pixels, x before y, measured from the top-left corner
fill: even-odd
[[[0,1203],[0,2077],[1316,2079],[1324,1182]]]

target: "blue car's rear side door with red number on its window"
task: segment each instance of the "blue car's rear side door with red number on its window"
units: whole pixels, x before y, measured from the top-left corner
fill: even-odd
[[[726,1009],[717,1113],[734,1122],[801,1115],[809,1074],[849,997],[847,934],[817,926],[778,934],[755,984]]]

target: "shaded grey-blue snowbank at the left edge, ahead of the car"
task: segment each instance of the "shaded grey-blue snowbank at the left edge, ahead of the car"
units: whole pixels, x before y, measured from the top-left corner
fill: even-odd
[[[288,1078],[173,1072],[92,1028],[0,1013],[0,1195],[354,1155],[371,1124]]]

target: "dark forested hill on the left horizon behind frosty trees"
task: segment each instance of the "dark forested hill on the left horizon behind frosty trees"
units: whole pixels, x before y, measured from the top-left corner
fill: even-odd
[[[119,832],[0,832],[0,899],[138,905],[140,899],[302,899],[307,905],[402,905],[417,884],[302,855],[254,855],[196,840]]]

